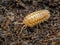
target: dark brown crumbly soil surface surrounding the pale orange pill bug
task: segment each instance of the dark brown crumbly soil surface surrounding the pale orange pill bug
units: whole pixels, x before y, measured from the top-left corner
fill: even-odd
[[[50,11],[49,20],[20,34],[18,23],[41,9]],[[60,45],[60,0],[0,0],[0,45]]]

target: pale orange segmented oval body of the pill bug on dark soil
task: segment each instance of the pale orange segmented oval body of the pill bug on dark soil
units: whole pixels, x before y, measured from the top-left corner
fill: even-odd
[[[33,13],[28,14],[23,23],[29,27],[37,25],[38,23],[42,23],[46,21],[50,17],[50,12],[48,10],[39,10]]]

